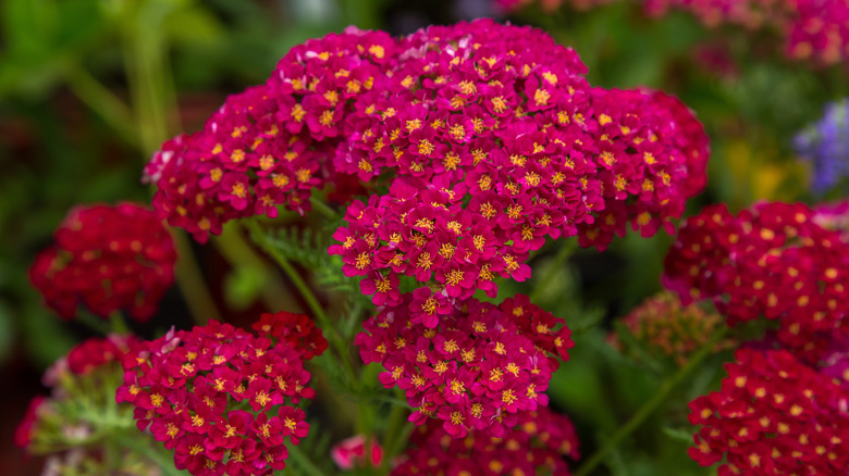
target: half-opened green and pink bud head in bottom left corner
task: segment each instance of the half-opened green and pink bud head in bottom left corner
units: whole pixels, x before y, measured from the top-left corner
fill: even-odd
[[[116,405],[114,394],[121,361],[135,343],[135,338],[114,335],[85,340],[45,374],[52,393],[32,400],[14,436],[17,447],[47,456],[45,474],[113,474],[116,460],[125,474],[160,474],[155,461],[128,448],[113,448],[119,453],[112,456],[119,458],[104,456],[110,436],[133,423],[133,410]]]

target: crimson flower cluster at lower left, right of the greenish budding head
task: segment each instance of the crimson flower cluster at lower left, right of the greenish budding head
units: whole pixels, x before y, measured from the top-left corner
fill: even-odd
[[[309,341],[320,335],[308,320],[295,333],[273,321],[263,317],[258,337],[216,321],[172,330],[124,359],[118,401],[135,405],[138,428],[174,450],[177,469],[268,475],[285,466],[284,438],[297,444],[307,435],[306,415],[293,404],[315,397],[304,359],[321,347]],[[293,335],[306,339],[293,348]]]

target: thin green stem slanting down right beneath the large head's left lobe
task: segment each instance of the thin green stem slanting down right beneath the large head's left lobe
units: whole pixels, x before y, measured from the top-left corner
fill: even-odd
[[[307,283],[300,276],[300,273],[295,270],[295,266],[292,265],[288,259],[286,259],[286,256],[283,255],[283,253],[281,253],[275,247],[269,246],[266,231],[262,230],[256,221],[245,220],[243,223],[250,233],[250,239],[259,245],[262,251],[268,253],[268,255],[271,256],[278,263],[278,265],[280,265],[292,284],[295,285],[295,288],[307,302],[307,306],[309,306],[315,318],[318,321],[319,326],[321,326],[321,328],[324,330],[324,334],[327,335],[325,337],[328,337],[331,345],[333,345],[334,349],[336,350],[336,353],[342,359],[345,371],[348,373],[348,377],[350,378],[352,385],[356,384],[358,380],[357,373],[350,362],[350,354],[348,347],[345,343],[345,339],[342,337],[336,326],[333,324],[333,322],[331,322],[330,317],[324,312],[324,308],[321,305],[318,298],[316,298],[316,295],[312,293],[312,289],[310,289],[309,285],[307,285]]]

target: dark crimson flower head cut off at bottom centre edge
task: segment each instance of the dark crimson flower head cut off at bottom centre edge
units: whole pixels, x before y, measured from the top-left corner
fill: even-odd
[[[522,413],[518,425],[501,438],[471,431],[463,439],[447,438],[439,425],[419,427],[392,476],[568,476],[563,456],[577,461],[578,437],[568,417],[545,408]]]

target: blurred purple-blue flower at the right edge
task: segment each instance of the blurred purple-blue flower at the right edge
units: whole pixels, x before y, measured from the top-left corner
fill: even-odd
[[[824,195],[849,176],[849,98],[825,108],[823,117],[793,140],[796,152],[813,166],[815,193]]]

